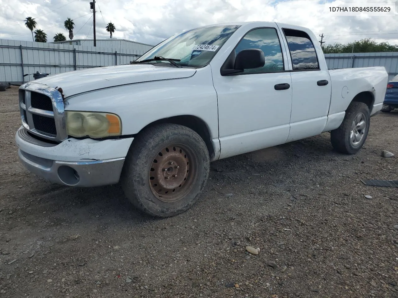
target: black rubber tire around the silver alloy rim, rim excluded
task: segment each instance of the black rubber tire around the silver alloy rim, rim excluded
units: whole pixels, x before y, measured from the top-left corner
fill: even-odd
[[[361,115],[363,120],[365,120],[365,128],[363,131],[363,136],[361,140],[354,144],[351,141],[351,131],[353,129],[353,122],[355,121],[356,117]],[[351,102],[348,106],[344,120],[339,126],[339,128],[332,130],[330,132],[330,141],[332,142],[332,146],[336,151],[345,154],[355,154],[362,148],[367,135],[369,133],[369,125],[370,125],[370,113],[369,107],[364,103],[359,102]]]

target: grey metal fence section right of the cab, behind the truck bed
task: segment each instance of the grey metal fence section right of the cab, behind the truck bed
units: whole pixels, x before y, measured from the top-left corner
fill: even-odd
[[[388,79],[398,74],[398,52],[325,54],[328,68],[384,66]]]

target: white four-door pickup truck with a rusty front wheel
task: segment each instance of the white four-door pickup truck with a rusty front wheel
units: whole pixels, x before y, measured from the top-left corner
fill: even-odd
[[[382,108],[384,67],[328,70],[315,35],[273,22],[184,31],[127,65],[21,85],[25,167],[66,186],[119,181],[153,216],[177,215],[209,163],[330,131],[355,154]]]

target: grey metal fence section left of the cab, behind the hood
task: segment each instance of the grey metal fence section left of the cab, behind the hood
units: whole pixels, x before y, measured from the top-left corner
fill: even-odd
[[[0,82],[20,84],[35,72],[60,74],[72,70],[128,64],[152,46],[137,50],[94,46],[35,43],[0,39]]]

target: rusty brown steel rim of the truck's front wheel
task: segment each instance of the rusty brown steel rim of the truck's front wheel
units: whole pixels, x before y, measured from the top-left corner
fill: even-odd
[[[149,185],[152,194],[165,203],[183,199],[197,180],[198,160],[193,149],[184,143],[163,147],[152,159]]]

